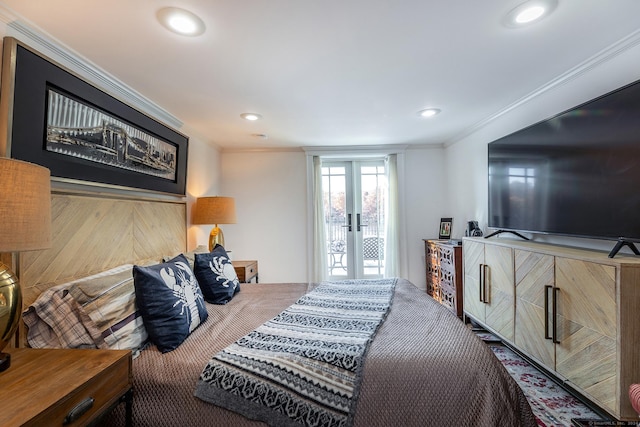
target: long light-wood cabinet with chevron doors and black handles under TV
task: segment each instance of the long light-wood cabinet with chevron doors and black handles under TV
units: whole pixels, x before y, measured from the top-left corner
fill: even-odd
[[[467,317],[614,418],[638,420],[640,257],[504,238],[463,247]]]

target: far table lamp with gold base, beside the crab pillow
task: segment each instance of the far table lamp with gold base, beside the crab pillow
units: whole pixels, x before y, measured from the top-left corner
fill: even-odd
[[[198,197],[193,212],[194,224],[215,224],[209,234],[209,251],[216,243],[224,246],[224,234],[218,224],[236,223],[236,202],[233,197]]]

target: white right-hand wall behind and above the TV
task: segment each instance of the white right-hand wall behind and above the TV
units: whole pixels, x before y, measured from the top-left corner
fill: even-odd
[[[452,215],[476,219],[487,232],[487,144],[538,121],[573,108],[593,98],[640,79],[640,46],[614,51],[606,61],[589,61],[578,67],[562,84],[533,97],[473,134],[446,149],[446,175],[450,185]],[[612,201],[612,207],[615,202]],[[640,214],[640,213],[639,213]],[[464,233],[461,222],[454,234]],[[510,236],[505,236],[511,238]],[[609,251],[613,242],[602,240],[528,235],[536,241]],[[623,252],[628,252],[626,249]]]

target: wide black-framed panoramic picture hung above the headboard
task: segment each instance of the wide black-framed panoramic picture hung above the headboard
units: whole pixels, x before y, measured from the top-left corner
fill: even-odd
[[[53,180],[186,194],[187,136],[105,93],[12,37],[5,37],[3,45],[0,117],[4,123],[0,126],[4,124],[6,133],[0,140],[0,154],[45,166],[51,170]],[[53,130],[63,127],[55,126],[57,122],[52,119],[55,112],[52,93],[73,105],[55,107],[68,108],[63,114],[82,115],[83,127],[73,127],[79,119],[71,125],[65,121],[65,131],[59,132],[64,135],[58,135],[57,141],[64,140],[64,144],[58,145],[67,148],[58,151],[51,135]],[[78,113],[78,108],[82,113]],[[99,122],[100,129],[106,130],[100,130],[98,125],[89,128],[86,111],[99,115],[100,119],[91,119],[91,123]],[[93,132],[92,140],[86,136],[87,129]]]

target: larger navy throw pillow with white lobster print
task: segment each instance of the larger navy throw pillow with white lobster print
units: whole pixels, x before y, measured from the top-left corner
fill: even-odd
[[[202,292],[184,255],[133,266],[136,302],[149,338],[162,353],[176,349],[207,319]]]

